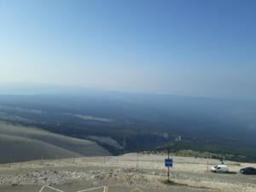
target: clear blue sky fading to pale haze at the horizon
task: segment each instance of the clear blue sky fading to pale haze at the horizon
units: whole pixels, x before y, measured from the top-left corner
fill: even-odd
[[[0,84],[256,98],[256,1],[0,0]]]

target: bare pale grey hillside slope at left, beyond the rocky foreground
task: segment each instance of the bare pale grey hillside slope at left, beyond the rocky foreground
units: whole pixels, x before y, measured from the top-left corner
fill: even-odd
[[[109,155],[94,142],[0,122],[0,163]]]

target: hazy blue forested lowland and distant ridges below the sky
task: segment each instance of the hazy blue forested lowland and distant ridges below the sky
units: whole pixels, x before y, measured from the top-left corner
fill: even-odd
[[[89,139],[112,154],[172,148],[180,138],[182,149],[256,160],[255,102],[90,89],[53,92],[1,95],[0,120]]]

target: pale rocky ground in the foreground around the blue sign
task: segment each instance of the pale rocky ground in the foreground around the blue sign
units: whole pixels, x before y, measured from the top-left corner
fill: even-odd
[[[40,160],[0,165],[0,187],[90,183],[95,186],[171,189],[172,186],[162,183],[166,179],[165,158],[166,155],[162,154],[125,154],[78,158],[74,163],[73,159],[65,159],[43,160],[43,165]],[[171,179],[180,184],[176,187],[189,186],[191,191],[256,191],[256,176],[207,172],[207,165],[210,169],[219,164],[218,160],[176,156],[173,160]],[[232,172],[238,172],[244,166],[256,166],[232,161],[225,161],[225,164]]]

